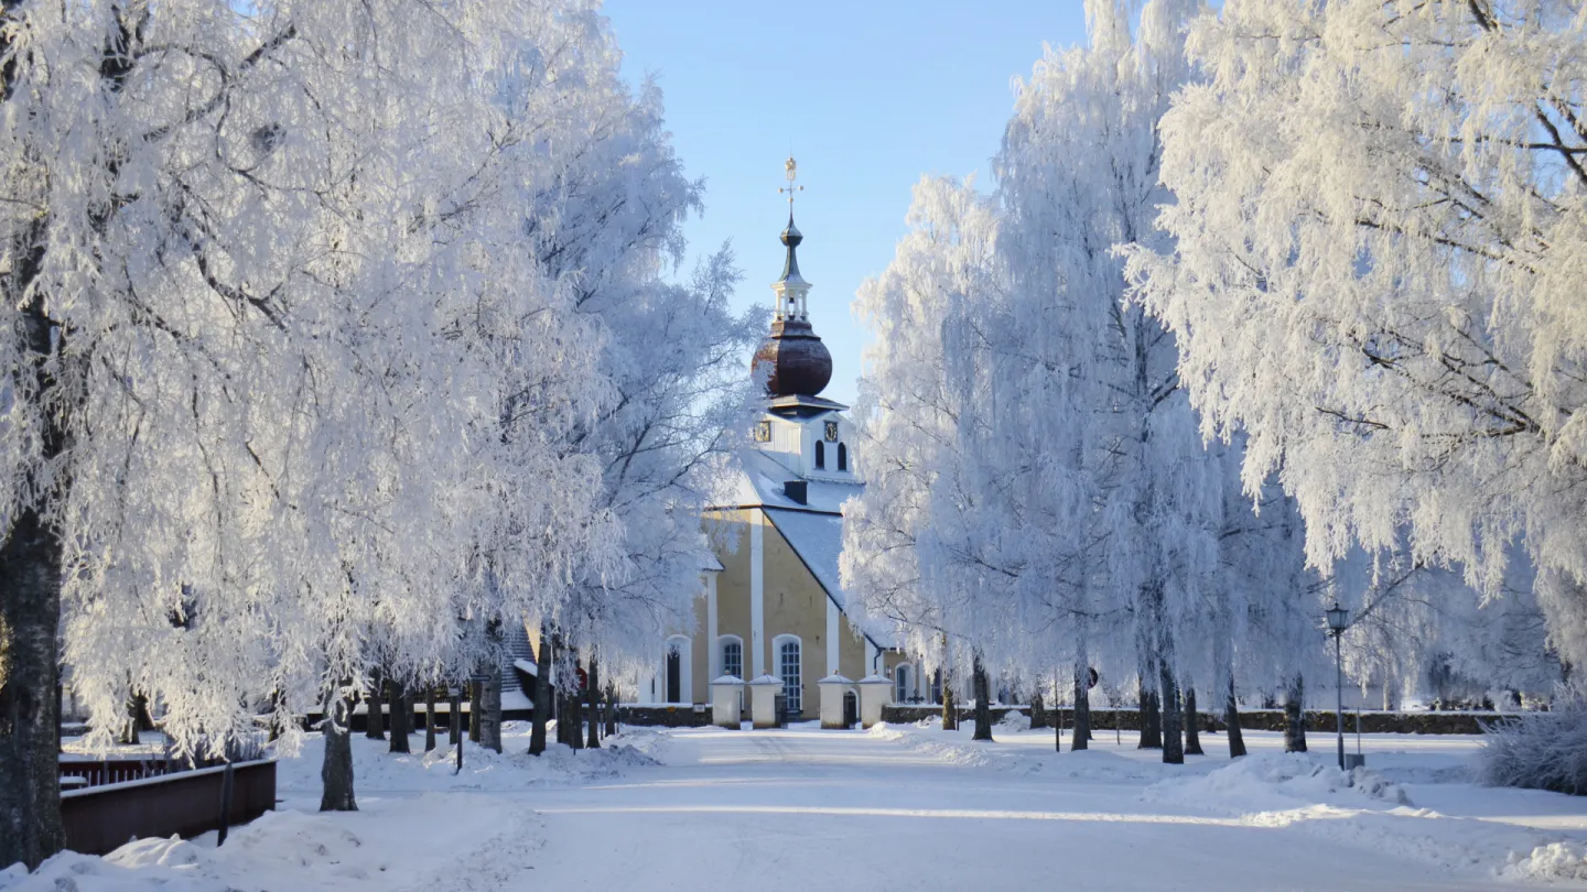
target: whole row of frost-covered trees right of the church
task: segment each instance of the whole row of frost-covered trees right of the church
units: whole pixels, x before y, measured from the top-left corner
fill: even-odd
[[[860,290],[844,584],[960,678],[1071,667],[1074,746],[1089,671],[1136,679],[1168,762],[1193,692],[1284,700],[1303,748],[1335,600],[1358,682],[1546,695],[1587,648],[1587,19],[1086,11],[1020,86],[995,190],[922,181]]]

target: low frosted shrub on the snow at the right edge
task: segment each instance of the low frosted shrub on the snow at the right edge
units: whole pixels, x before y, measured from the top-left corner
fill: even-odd
[[[1484,784],[1587,795],[1587,700],[1495,722],[1479,759]]]

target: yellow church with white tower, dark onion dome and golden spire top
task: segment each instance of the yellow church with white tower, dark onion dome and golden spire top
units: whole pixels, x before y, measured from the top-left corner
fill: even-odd
[[[722,676],[781,681],[786,713],[797,719],[820,714],[817,681],[835,676],[886,678],[893,702],[920,697],[919,667],[889,627],[849,616],[838,578],[843,503],[865,484],[854,473],[849,406],[820,395],[832,354],[811,325],[811,283],[798,268],[795,176],[789,159],[789,224],[779,236],[787,254],[771,284],[771,332],[751,363],[765,375],[765,411],[754,448],[738,457],[732,495],[706,511],[708,524],[725,527],[714,538],[727,544],[703,573],[695,629],[671,635],[655,675],[640,679],[641,703],[709,703],[709,682]]]

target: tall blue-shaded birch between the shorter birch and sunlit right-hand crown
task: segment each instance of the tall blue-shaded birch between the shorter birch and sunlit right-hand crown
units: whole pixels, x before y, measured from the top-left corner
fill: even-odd
[[[1181,687],[1174,630],[1214,573],[1220,476],[1178,390],[1173,338],[1120,303],[1114,246],[1163,238],[1152,225],[1157,121],[1189,78],[1192,10],[1152,2],[1133,19],[1132,5],[1087,3],[1087,46],[1049,51],[1036,65],[995,162],[1005,263],[1020,283],[1006,349],[1028,357],[1013,367],[1017,390],[1039,394],[1024,408],[1046,419],[1027,425],[1035,441],[1024,451],[1049,435],[1066,441],[1046,489],[1068,478],[1086,494],[1082,511],[1070,497],[1071,513],[1054,514],[1065,551],[1086,563],[1073,627],[1090,629],[1109,602],[1127,605],[1130,668],[1170,721]],[[1076,678],[1084,673],[1076,660]],[[1173,744],[1165,759],[1176,759]]]

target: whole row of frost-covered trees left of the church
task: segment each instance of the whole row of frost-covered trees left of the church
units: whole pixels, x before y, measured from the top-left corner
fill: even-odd
[[[590,0],[0,3],[0,862],[62,659],[187,749],[687,617],[751,398],[724,249]]]

